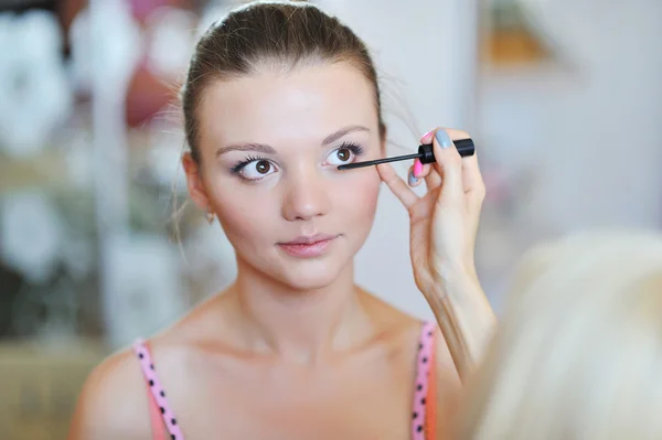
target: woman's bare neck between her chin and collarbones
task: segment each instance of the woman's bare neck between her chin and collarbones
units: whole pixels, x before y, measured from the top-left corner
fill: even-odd
[[[295,363],[314,364],[364,341],[372,326],[353,275],[348,265],[329,286],[295,290],[239,261],[228,293],[246,343]]]

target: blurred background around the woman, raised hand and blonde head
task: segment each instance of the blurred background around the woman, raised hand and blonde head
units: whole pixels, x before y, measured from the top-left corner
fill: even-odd
[[[0,0],[0,439],[64,439],[95,364],[233,279],[218,225],[174,215],[188,198],[174,90],[236,3]],[[532,243],[662,226],[662,2],[317,3],[373,51],[392,153],[437,126],[472,133],[496,312]],[[383,191],[357,281],[429,318],[407,221]]]

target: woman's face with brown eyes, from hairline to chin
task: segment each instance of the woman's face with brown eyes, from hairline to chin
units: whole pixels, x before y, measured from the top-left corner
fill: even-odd
[[[218,216],[239,264],[296,289],[331,283],[373,224],[382,155],[372,84],[350,64],[217,82],[203,92],[200,173],[189,189]]]

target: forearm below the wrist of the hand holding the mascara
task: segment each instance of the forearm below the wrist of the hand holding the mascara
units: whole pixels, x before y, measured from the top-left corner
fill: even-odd
[[[469,275],[437,282],[426,297],[465,382],[492,337],[496,325],[494,312],[478,279]]]

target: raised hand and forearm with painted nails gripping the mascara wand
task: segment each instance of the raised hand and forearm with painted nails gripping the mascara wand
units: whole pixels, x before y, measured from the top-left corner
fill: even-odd
[[[416,160],[408,181],[387,163],[376,170],[408,213],[414,280],[449,346],[463,354],[453,361],[460,377],[468,377],[480,363],[495,323],[473,257],[485,189],[469,133],[437,128],[424,135],[420,143],[419,152],[409,155]],[[426,153],[430,151],[427,144],[434,146],[434,154]],[[423,162],[428,165],[421,167]],[[425,185],[414,191],[421,180]],[[455,316],[459,319],[453,321]]]

